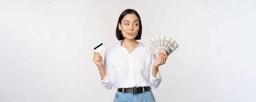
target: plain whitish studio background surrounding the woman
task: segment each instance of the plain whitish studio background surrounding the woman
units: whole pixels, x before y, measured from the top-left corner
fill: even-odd
[[[112,102],[93,48],[119,42],[125,9],[141,16],[139,42],[179,44],[157,102],[256,102],[255,0],[0,0],[0,102]]]

